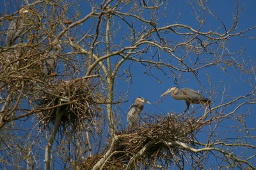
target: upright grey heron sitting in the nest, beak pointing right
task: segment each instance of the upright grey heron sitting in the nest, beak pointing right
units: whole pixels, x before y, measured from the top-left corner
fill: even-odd
[[[136,125],[139,118],[140,113],[143,111],[143,103],[150,104],[147,100],[145,100],[143,97],[138,97],[135,99],[134,104],[131,105],[128,113],[127,113],[127,122],[128,127],[131,127],[132,125]]]

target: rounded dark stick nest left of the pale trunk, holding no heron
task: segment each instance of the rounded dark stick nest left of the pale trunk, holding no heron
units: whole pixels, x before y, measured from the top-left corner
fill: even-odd
[[[52,124],[56,120],[58,107],[61,114],[61,127],[77,127],[84,121],[92,121],[100,116],[100,102],[104,97],[93,79],[72,79],[56,81],[41,89],[36,96],[38,108],[48,108],[36,114],[40,123]]]

